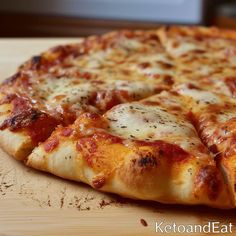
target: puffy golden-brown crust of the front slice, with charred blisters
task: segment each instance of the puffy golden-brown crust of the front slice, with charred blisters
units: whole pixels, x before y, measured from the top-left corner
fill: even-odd
[[[213,161],[199,160],[196,164],[195,157],[182,153],[177,158],[176,151],[171,160],[168,149],[163,149],[167,144],[128,144],[128,140],[101,133],[100,129],[92,131],[94,127],[84,118],[79,124],[86,124],[89,136],[84,135],[86,130],[82,134],[72,126],[73,132],[65,138],[61,136],[64,128],[58,128],[50,139],[58,138],[59,145],[46,151],[46,143],[41,144],[29,156],[27,165],[134,199],[233,206]]]

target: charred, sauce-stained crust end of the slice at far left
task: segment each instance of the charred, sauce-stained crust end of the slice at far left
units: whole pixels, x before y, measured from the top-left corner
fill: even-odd
[[[0,94],[0,144],[16,159],[29,155],[58,124],[48,113],[34,108],[26,97]]]

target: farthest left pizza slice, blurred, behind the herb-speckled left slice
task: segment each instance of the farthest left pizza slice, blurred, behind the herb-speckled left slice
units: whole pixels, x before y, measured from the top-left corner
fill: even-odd
[[[33,57],[20,70],[88,80],[141,80],[163,86],[173,83],[174,68],[157,30],[123,30],[57,46]]]

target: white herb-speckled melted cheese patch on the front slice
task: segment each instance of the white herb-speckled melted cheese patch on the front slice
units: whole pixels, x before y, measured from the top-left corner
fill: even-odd
[[[164,140],[186,150],[200,143],[193,126],[187,120],[158,106],[126,103],[114,107],[105,117],[109,121],[109,131],[124,138]]]

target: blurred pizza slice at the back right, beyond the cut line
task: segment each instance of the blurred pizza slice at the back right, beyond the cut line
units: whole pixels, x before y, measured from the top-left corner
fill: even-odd
[[[159,37],[175,59],[179,83],[190,82],[228,96],[236,94],[236,34],[204,27],[166,27]]]

